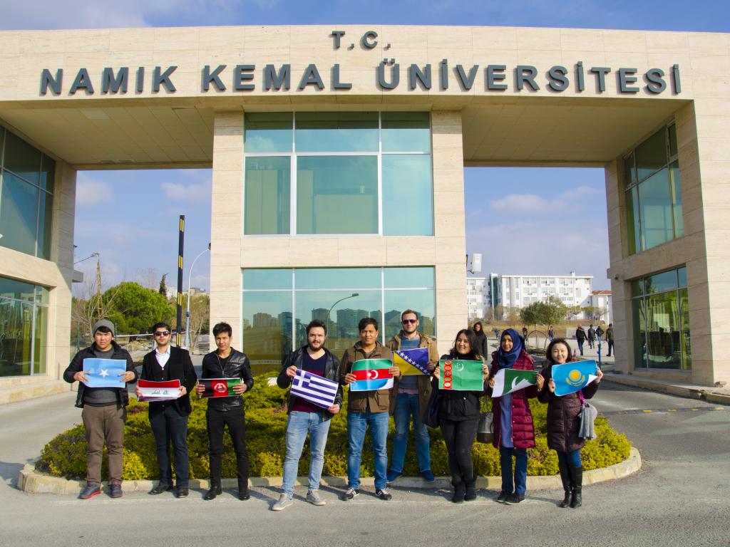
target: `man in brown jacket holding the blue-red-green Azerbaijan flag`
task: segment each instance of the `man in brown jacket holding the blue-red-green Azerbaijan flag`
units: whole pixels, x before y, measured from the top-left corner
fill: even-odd
[[[365,317],[358,324],[360,340],[342,355],[340,384],[347,385],[356,381],[353,363],[364,359],[387,359],[393,361],[391,350],[380,344],[377,333],[377,320]],[[392,363],[391,363],[392,365]],[[350,392],[347,397],[347,492],[342,499],[352,500],[360,493],[360,460],[365,442],[365,432],[370,428],[370,441],[375,459],[375,494],[381,500],[390,500],[391,494],[385,489],[385,473],[388,470],[388,416],[395,406],[393,391],[397,389],[401,371],[391,366],[394,376],[393,389],[377,389],[366,392]]]

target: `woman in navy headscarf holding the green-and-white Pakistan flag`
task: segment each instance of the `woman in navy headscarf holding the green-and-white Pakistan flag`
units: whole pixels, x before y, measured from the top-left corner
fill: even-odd
[[[525,351],[523,338],[514,329],[502,331],[499,349],[492,353],[488,392],[494,387],[494,375],[503,368],[515,371],[533,371],[534,360]],[[515,505],[525,499],[527,486],[527,449],[535,446],[535,428],[528,399],[537,397],[542,389],[542,377],[537,376],[537,386],[530,386],[492,400],[494,446],[499,449],[502,466],[502,491],[497,501]],[[515,457],[514,481],[512,457]]]

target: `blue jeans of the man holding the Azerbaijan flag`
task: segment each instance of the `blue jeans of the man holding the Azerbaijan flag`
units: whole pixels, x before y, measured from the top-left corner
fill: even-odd
[[[388,413],[348,412],[347,441],[347,488],[360,488],[360,459],[365,443],[365,431],[370,427],[370,442],[375,457],[375,489],[385,489],[385,473],[388,471]]]

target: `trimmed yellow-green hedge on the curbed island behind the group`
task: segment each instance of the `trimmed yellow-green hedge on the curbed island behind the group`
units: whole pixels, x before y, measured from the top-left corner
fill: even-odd
[[[246,441],[250,460],[250,476],[281,476],[286,455],[286,391],[279,387],[269,387],[267,376],[257,376],[255,387],[245,395],[246,400]],[[345,394],[345,403],[347,394]],[[205,427],[205,408],[207,402],[191,395],[193,413],[188,422],[188,449],[190,453],[191,478],[207,478],[208,441]],[[491,400],[486,408],[491,406]],[[527,473],[529,475],[555,475],[558,473],[556,452],[548,449],[545,437],[547,405],[536,399],[530,400],[535,430],[536,446],[530,449]],[[347,412],[346,406],[332,418],[327,440],[323,475],[347,475]],[[388,437],[388,454],[392,451],[393,422]],[[131,403],[128,406],[128,419],[124,430],[124,473],[125,480],[151,479],[158,475],[155,438],[147,417],[147,403]],[[586,470],[604,468],[621,462],[629,457],[631,443],[624,435],[610,427],[608,420],[599,416],[596,419],[594,441],[588,441],[583,448],[583,466]],[[236,476],[236,456],[231,439],[224,435],[226,451],[223,454],[223,476]],[[409,446],[414,447],[413,433]],[[475,443],[472,450],[475,470],[480,476],[499,476],[499,450],[493,446]],[[372,476],[374,472],[372,446],[366,436],[362,454],[362,476]],[[36,469],[53,476],[80,479],[86,474],[86,441],[82,425],[53,438],[44,447]],[[441,430],[431,430],[431,469],[437,476],[448,476],[446,446]],[[307,475],[309,470],[309,441],[304,445],[299,460],[299,475]],[[107,460],[104,458],[102,476],[107,476]],[[406,453],[405,476],[418,476],[418,462],[415,449]]]

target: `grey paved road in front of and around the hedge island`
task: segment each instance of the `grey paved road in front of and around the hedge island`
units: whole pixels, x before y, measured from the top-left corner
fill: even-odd
[[[130,536],[180,546],[730,545],[730,408],[615,384],[604,384],[595,402],[645,463],[635,476],[588,486],[579,510],[557,508],[557,491],[528,492],[520,505],[504,506],[494,502],[496,492],[453,505],[445,491],[393,489],[387,503],[366,493],[345,503],[339,492],[325,491],[323,508],[304,503],[298,490],[296,503],[280,513],[268,511],[276,489],[255,489],[248,502],[234,492],[212,502],[196,493],[186,500],[129,492],[121,500],[80,501],[18,492],[12,485],[20,465],[79,411],[70,394],[3,406],[0,545],[126,546]]]

